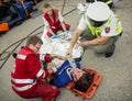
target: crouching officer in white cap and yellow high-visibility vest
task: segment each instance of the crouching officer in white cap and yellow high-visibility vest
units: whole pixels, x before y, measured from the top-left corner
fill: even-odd
[[[110,57],[116,47],[116,41],[122,33],[121,22],[109,7],[100,1],[91,3],[87,12],[81,16],[70,41],[67,54],[73,53],[73,47],[81,35],[80,46],[91,46],[97,54]]]

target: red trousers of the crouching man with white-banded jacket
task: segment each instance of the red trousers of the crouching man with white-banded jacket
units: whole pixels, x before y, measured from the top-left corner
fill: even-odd
[[[13,89],[14,90],[14,89]],[[32,91],[16,91],[20,97],[25,99],[43,98],[42,101],[55,101],[59,94],[59,89],[46,82],[38,81]]]

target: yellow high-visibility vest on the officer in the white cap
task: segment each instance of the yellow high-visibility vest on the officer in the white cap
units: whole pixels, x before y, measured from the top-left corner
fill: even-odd
[[[88,21],[87,16],[85,15],[85,19],[86,19],[87,22],[88,22],[88,29],[91,31],[91,34],[92,34],[94,36],[98,37],[98,38],[101,37],[100,34],[101,34],[103,27],[109,26],[109,24],[110,24],[110,22],[111,22],[111,20],[112,20],[113,18],[117,18],[117,25],[116,25],[116,32],[114,32],[114,33],[117,33],[117,35],[119,35],[119,34],[123,31],[123,29],[122,29],[122,25],[121,25],[121,22],[120,22],[118,15],[111,16],[111,18],[107,21],[107,23],[106,23],[105,25],[101,25],[101,26],[99,26],[99,27],[92,26],[92,25],[90,24],[90,22]]]

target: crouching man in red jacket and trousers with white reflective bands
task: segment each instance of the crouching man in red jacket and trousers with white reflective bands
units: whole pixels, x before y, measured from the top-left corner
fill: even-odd
[[[42,97],[42,101],[55,101],[59,89],[44,81],[47,76],[54,72],[54,69],[42,69],[43,65],[40,59],[44,57],[45,61],[51,61],[52,58],[37,54],[43,42],[38,36],[31,36],[26,46],[18,53],[11,72],[12,89],[25,99]]]

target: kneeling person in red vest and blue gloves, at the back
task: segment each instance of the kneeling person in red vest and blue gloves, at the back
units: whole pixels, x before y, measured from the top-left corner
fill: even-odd
[[[65,33],[68,33],[69,31],[70,26],[65,23],[59,10],[53,9],[48,3],[44,3],[43,20],[48,37],[56,38],[58,31],[63,31]]]

